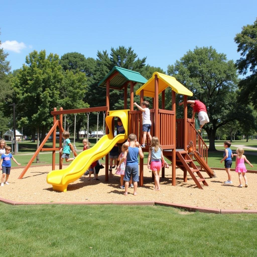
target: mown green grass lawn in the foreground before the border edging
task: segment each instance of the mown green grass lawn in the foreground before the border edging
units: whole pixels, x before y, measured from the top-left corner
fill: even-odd
[[[2,257],[256,256],[254,214],[164,206],[0,203]]]

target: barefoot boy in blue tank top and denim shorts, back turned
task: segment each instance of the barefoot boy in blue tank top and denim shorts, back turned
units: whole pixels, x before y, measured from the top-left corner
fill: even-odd
[[[130,145],[129,145],[128,149],[124,152],[124,156],[120,160],[120,163],[117,166],[117,169],[120,168],[120,165],[127,158],[126,168],[125,168],[125,176],[124,176],[124,181],[125,181],[124,195],[128,194],[128,184],[129,184],[131,176],[132,176],[132,181],[133,181],[133,186],[134,186],[134,195],[137,195],[136,189],[137,189],[137,182],[139,181],[137,157],[139,155],[140,158],[144,158],[144,154],[142,152],[141,146],[140,145],[138,145],[138,147],[136,146],[136,135],[135,134],[130,134],[128,136],[128,142]]]

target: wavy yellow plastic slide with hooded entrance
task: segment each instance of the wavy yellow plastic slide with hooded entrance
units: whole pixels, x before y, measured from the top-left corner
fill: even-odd
[[[109,134],[101,137],[92,148],[78,154],[67,168],[52,170],[48,173],[47,183],[53,185],[53,190],[66,192],[68,184],[79,179],[94,161],[101,159],[109,153],[116,143],[122,143],[127,139],[128,111],[110,111],[109,115],[105,118],[110,131]],[[118,134],[114,137],[112,133],[113,117],[119,117],[121,119],[125,134]]]

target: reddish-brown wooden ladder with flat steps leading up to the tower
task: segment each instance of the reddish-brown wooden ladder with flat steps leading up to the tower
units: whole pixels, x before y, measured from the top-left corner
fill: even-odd
[[[176,165],[184,171],[184,174],[185,171],[189,173],[198,188],[203,189],[200,182],[203,182],[205,186],[208,186],[200,170],[196,167],[194,161],[190,158],[186,151],[176,151],[176,155],[178,157],[178,159],[176,159]],[[195,173],[199,178],[195,176]]]

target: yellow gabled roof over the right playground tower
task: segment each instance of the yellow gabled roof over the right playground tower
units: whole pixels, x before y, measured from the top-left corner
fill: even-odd
[[[144,90],[144,96],[154,97],[154,75],[158,77],[158,89],[160,94],[167,87],[171,87],[176,93],[181,95],[192,96],[193,93],[179,83],[174,77],[162,74],[160,72],[154,72],[153,76],[139,89],[136,90],[136,95],[140,95],[140,91]]]

